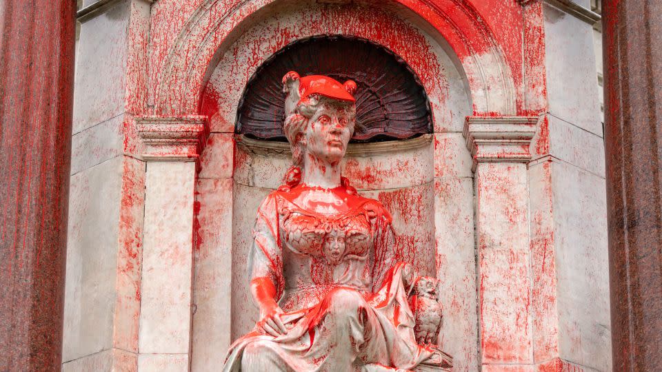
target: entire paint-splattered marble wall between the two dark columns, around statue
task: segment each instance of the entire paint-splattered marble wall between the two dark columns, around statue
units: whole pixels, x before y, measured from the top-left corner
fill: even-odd
[[[80,21],[63,370],[216,370],[254,322],[250,228],[289,159],[238,141],[237,107],[320,34],[387,48],[428,96],[432,134],[354,144],[344,175],[441,279],[454,371],[610,370],[589,23],[537,0],[122,0]]]

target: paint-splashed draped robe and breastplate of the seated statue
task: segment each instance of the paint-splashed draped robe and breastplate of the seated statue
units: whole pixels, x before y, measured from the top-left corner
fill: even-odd
[[[333,198],[298,185],[270,194],[257,212],[252,278],[270,278],[288,333],[256,327],[234,342],[223,371],[410,370],[433,351],[414,338],[403,252],[377,201],[344,185]],[[339,201],[341,203],[339,204]]]

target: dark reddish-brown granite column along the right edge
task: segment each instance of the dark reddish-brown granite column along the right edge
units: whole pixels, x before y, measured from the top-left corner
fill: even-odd
[[[603,10],[614,371],[662,371],[662,2]]]

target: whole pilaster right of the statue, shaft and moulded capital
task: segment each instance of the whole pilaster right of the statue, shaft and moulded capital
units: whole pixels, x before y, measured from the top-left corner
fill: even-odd
[[[536,121],[468,117],[465,122],[475,172],[483,371],[534,362],[526,163]]]

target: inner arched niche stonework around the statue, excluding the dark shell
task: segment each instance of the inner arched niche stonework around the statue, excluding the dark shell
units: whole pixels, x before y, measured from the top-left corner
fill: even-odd
[[[443,331],[444,347],[459,355],[458,365],[472,369],[478,337],[472,174],[461,130],[476,103],[466,72],[457,68],[458,56],[448,54],[439,36],[390,8],[288,3],[257,12],[250,25],[243,25],[234,31],[232,43],[214,54],[197,103],[197,110],[210,117],[211,134],[201,155],[197,189],[205,212],[197,218],[192,366],[203,370],[222,363],[230,342],[257,319],[246,267],[250,229],[259,203],[280,185],[290,163],[285,143],[246,138],[235,143],[245,86],[262,63],[291,41],[343,34],[392,51],[425,88],[433,133],[352,144],[343,173],[359,192],[392,211],[397,244],[412,251],[421,273],[442,279],[448,291],[441,300],[450,324]]]

